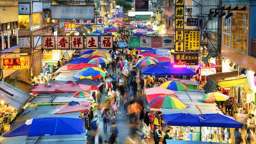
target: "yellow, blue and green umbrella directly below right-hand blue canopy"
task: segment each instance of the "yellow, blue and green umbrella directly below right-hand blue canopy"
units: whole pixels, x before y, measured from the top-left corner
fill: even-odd
[[[160,87],[164,87],[166,89],[171,89],[171,90],[178,90],[178,91],[187,90],[187,87],[178,81],[166,81],[163,84],[161,84]]]

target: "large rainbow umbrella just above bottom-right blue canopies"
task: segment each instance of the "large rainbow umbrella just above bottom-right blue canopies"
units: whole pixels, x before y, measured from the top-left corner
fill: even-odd
[[[186,109],[188,106],[177,97],[165,95],[155,98],[148,104],[148,107],[154,109]]]

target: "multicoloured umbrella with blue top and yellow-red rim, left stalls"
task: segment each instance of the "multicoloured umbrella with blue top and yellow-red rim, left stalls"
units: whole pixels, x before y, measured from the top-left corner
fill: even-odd
[[[105,77],[106,74],[102,69],[98,67],[87,67],[85,69],[81,69],[76,75],[73,76],[74,79],[98,79]]]

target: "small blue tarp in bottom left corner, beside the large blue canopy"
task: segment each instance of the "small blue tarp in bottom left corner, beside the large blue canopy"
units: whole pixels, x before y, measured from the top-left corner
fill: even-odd
[[[31,125],[26,125],[26,121],[16,121],[11,124],[10,130],[5,132],[2,137],[14,137],[14,136],[24,136],[29,132]]]

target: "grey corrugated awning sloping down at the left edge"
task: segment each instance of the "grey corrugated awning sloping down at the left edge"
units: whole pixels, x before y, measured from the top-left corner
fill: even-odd
[[[9,104],[16,109],[20,109],[26,102],[28,102],[30,97],[31,95],[28,93],[23,92],[4,81],[0,81],[0,100],[3,100],[6,104]]]

